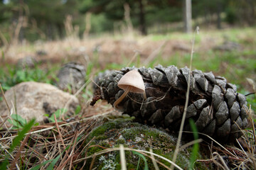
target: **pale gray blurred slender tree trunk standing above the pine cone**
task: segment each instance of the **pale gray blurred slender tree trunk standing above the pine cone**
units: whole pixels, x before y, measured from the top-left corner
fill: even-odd
[[[191,33],[192,30],[192,6],[191,0],[183,0],[183,21],[184,30],[186,33]]]

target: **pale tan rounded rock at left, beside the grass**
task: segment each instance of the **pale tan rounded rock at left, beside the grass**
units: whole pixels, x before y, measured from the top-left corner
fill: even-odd
[[[79,104],[78,98],[75,96],[61,91],[50,84],[33,81],[23,82],[11,87],[4,96],[13,113],[14,108],[11,103],[16,103],[16,113],[18,115],[21,115],[26,120],[36,118],[36,121],[39,123],[42,123],[46,118],[46,113],[54,112],[56,109],[67,106],[67,113],[71,114]],[[1,117],[9,115],[4,101],[1,101],[0,108]],[[10,128],[11,125],[8,122],[5,124],[6,128]]]

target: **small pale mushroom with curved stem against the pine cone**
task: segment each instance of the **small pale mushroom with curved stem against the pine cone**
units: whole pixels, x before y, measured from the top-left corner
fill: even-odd
[[[114,102],[114,108],[118,109],[117,105],[124,99],[125,96],[127,96],[129,92],[144,94],[144,98],[146,98],[145,85],[142,75],[139,74],[139,72],[135,69],[124,74],[124,76],[118,81],[117,86],[124,90],[124,94],[122,94],[122,96],[120,96],[117,101]]]

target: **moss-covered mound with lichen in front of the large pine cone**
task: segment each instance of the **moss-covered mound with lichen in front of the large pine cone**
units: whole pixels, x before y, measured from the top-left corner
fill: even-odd
[[[92,137],[95,137],[94,140],[92,140]],[[131,118],[112,120],[100,125],[92,130],[87,137],[87,142],[90,140],[92,140],[90,146],[94,145],[94,147],[90,147],[87,150],[87,157],[104,150],[102,147],[114,148],[124,145],[124,147],[145,151],[149,151],[151,148],[155,154],[171,160],[176,147],[176,137],[168,135],[166,132],[157,130],[156,128],[149,128],[146,125],[133,123]],[[188,147],[179,152],[176,164],[182,169],[189,166],[192,150],[192,147]],[[202,156],[200,154],[196,156],[196,159],[201,158]],[[125,159],[127,162],[127,169],[145,169],[145,166],[148,166],[148,169],[155,169],[154,164],[149,157],[145,156],[143,158],[140,154],[132,151],[125,151]],[[158,157],[155,157],[155,159],[168,167],[171,166],[169,162],[166,162],[163,159],[159,159]],[[91,162],[92,159],[87,160],[87,168],[90,167]],[[93,168],[105,169],[108,167],[109,169],[121,169],[119,162],[119,150],[108,152],[96,157]],[[160,164],[158,164],[158,166],[159,169],[166,169]],[[193,166],[196,169],[206,169],[204,164],[195,163]]]

